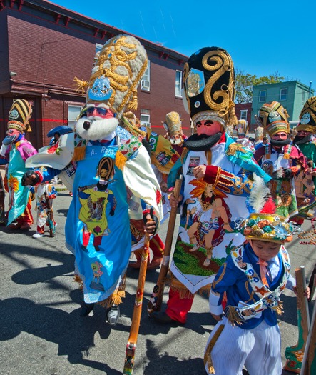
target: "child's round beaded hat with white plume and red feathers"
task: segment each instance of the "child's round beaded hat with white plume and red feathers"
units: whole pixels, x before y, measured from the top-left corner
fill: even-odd
[[[250,216],[240,222],[240,233],[246,239],[277,243],[292,241],[292,233],[297,231],[295,224],[285,222],[283,216],[275,214],[275,203],[269,188],[261,177],[253,176],[253,188],[247,203]]]

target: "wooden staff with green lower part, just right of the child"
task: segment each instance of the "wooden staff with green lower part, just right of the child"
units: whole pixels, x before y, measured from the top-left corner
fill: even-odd
[[[298,339],[295,346],[288,346],[285,349],[284,369],[287,371],[300,374],[302,367],[302,360],[305,351],[305,344],[307,341],[308,329],[310,328],[310,314],[308,311],[307,298],[304,296],[306,289],[305,268],[295,269],[295,278],[297,286],[297,327]]]

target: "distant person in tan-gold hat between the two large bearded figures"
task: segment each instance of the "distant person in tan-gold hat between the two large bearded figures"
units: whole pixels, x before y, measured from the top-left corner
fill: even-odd
[[[173,149],[181,156],[183,151],[183,142],[188,139],[182,131],[182,121],[178,112],[169,112],[165,115],[163,127],[167,131],[165,138],[170,141]]]

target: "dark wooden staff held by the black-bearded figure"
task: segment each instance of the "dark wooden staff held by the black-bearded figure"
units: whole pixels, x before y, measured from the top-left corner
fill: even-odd
[[[183,175],[180,174],[177,181],[175,181],[175,189],[173,190],[173,195],[177,200],[180,194],[182,179]],[[153,287],[151,299],[148,301],[147,304],[147,311],[149,314],[151,314],[153,310],[160,311],[161,309],[161,304],[163,301],[163,289],[165,289],[165,276],[167,276],[169,269],[170,253],[173,241],[173,231],[175,229],[175,219],[177,216],[177,211],[177,207],[172,207],[170,211],[167,236],[165,237],[165,251],[163,252],[163,263],[161,264],[157,284]]]

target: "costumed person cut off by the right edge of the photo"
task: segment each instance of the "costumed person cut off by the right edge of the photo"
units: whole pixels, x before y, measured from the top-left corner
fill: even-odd
[[[293,144],[297,146],[306,158],[308,169],[301,171],[297,180],[297,205],[300,207],[299,214],[302,218],[308,216],[307,211],[316,205],[316,96],[308,99],[300,113],[300,122],[296,128],[297,135]]]

